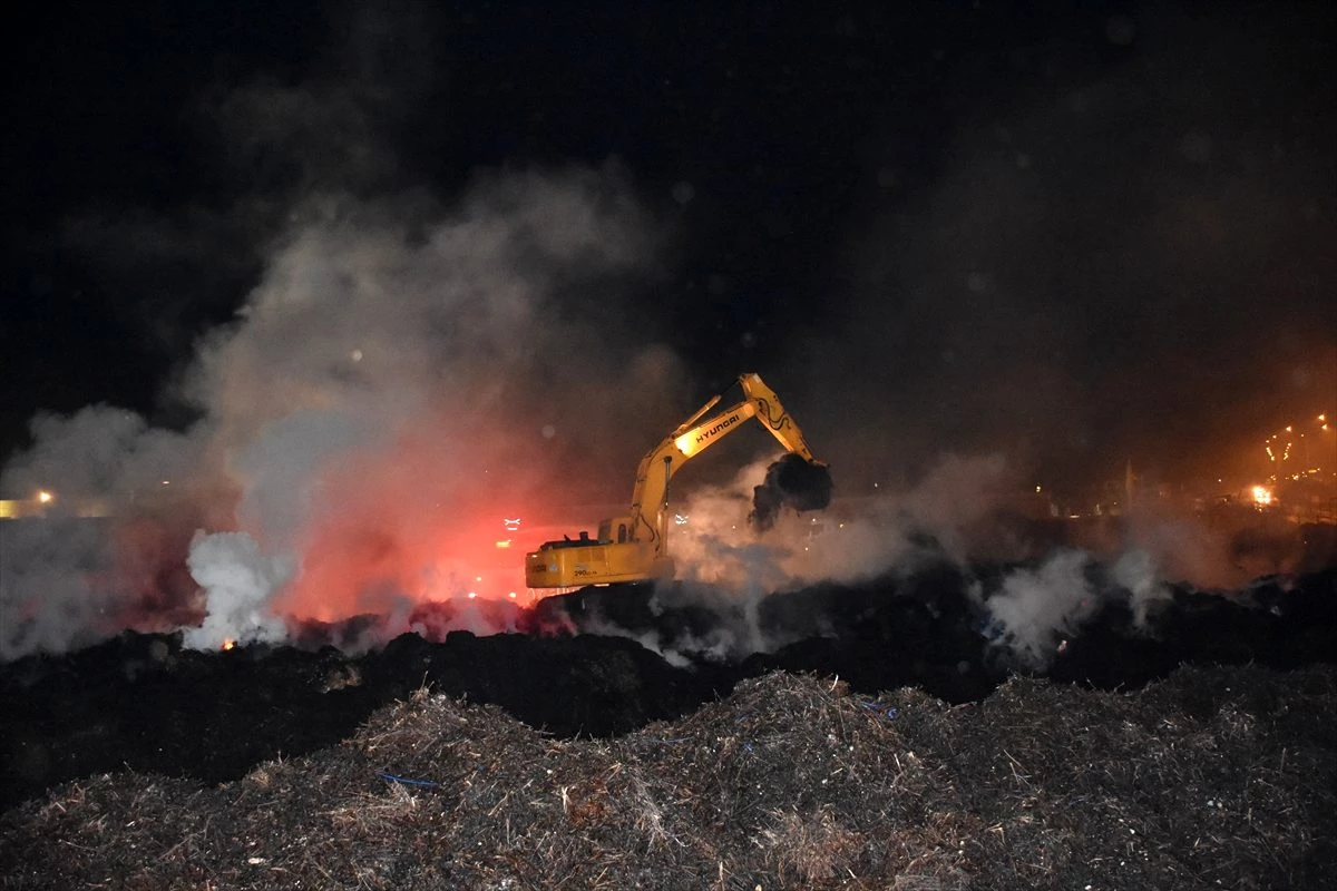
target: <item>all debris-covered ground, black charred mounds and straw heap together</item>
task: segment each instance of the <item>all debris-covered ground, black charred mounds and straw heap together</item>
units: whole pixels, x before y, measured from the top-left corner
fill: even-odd
[[[1337,574],[1108,600],[1029,671],[952,578],[775,596],[741,660],[687,647],[738,616],[627,592],[20,660],[0,888],[1337,886]]]

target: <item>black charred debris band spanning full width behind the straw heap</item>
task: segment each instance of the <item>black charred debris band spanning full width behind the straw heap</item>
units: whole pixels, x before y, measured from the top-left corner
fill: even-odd
[[[754,604],[690,586],[583,589],[528,613],[529,633],[404,635],[356,657],[333,647],[202,653],[175,636],[126,633],[0,665],[0,808],[104,771],[237,780],[349,739],[420,689],[497,705],[547,737],[610,739],[777,669],[840,677],[861,696],[916,688],[963,704],[1019,675],[1136,691],[1181,664],[1337,663],[1337,570],[1230,594],[1174,590],[1140,627],[1128,598],[1108,594],[1043,667],[1000,645],[968,593],[981,577],[941,565]]]

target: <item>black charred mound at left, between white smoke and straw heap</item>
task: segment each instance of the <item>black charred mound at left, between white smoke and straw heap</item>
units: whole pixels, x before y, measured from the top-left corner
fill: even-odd
[[[233,780],[263,760],[336,744],[418,684],[501,705],[544,732],[610,736],[682,715],[729,683],[614,637],[456,632],[432,644],[404,635],[348,659],[329,647],[203,653],[175,637],[124,635],[0,671],[0,808],[112,769]]]

